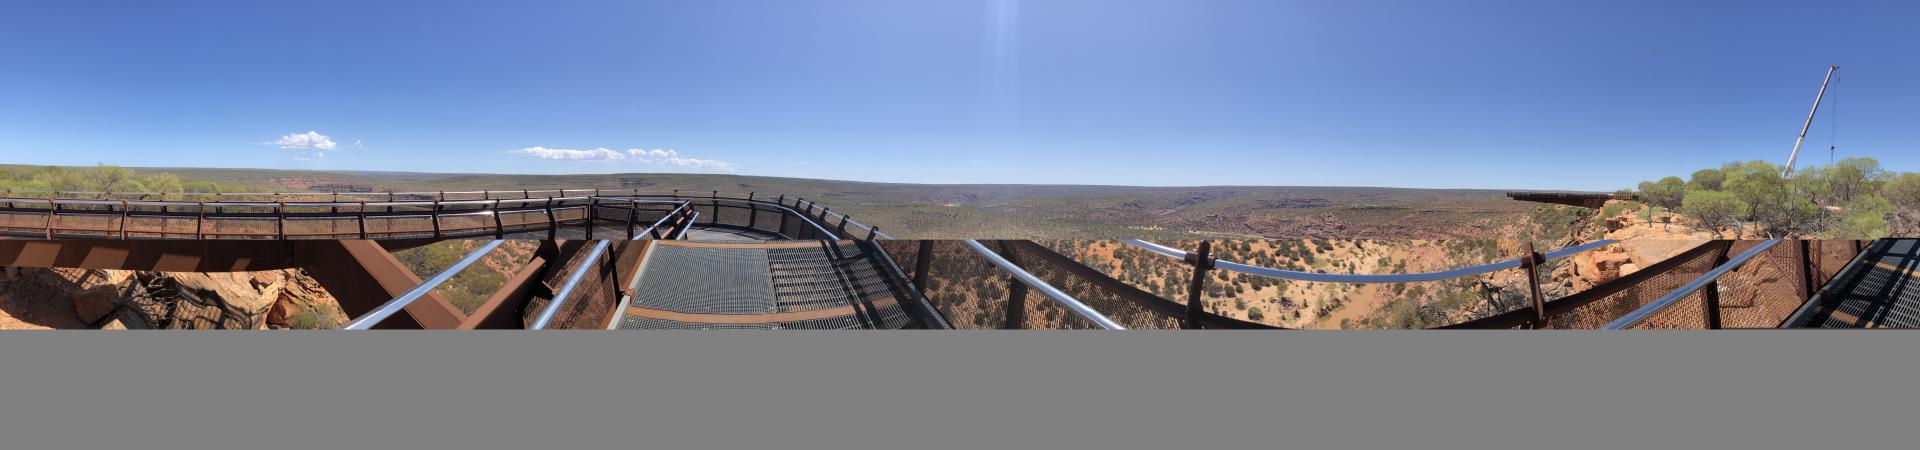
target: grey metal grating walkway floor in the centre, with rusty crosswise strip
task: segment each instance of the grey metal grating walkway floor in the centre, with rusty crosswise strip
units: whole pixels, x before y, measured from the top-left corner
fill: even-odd
[[[659,242],[611,329],[924,329],[854,240]]]

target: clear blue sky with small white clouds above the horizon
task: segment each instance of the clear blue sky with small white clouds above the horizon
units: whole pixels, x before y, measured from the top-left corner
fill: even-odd
[[[1912,17],[1920,4],[10,2],[0,162],[1611,190],[1784,162],[1839,63],[1803,162],[1834,140],[1912,171]]]

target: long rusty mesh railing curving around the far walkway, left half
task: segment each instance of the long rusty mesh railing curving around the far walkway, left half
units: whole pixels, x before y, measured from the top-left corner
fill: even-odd
[[[35,194],[44,194],[35,196]],[[755,192],[707,194],[563,188],[434,192],[73,192],[0,194],[0,235],[38,238],[455,238],[586,235],[624,225],[639,237],[685,210],[705,223],[776,238],[893,238],[812,200]],[[689,206],[689,208],[682,208]],[[703,213],[701,213],[703,212]],[[645,233],[653,237],[653,233]],[[662,237],[666,233],[660,233]],[[674,235],[682,235],[676,231]]]

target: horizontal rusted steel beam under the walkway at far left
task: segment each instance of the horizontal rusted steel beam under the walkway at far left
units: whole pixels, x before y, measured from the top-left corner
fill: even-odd
[[[0,240],[0,265],[121,271],[271,271],[294,267],[273,240]]]

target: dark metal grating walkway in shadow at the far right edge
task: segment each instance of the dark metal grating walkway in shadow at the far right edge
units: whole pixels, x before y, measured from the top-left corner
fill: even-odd
[[[1920,240],[1878,240],[1782,327],[1920,327]]]

